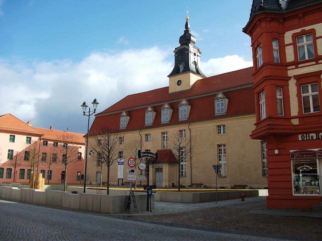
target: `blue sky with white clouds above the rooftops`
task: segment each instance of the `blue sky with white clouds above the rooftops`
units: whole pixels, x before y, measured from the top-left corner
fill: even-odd
[[[0,115],[87,132],[129,94],[168,86],[188,16],[209,77],[252,66],[251,0],[0,0]],[[91,108],[93,109],[93,108]],[[90,125],[94,116],[90,117]]]

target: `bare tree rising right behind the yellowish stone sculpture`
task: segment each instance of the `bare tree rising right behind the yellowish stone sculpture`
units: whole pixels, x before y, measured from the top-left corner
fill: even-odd
[[[43,146],[40,145],[40,141],[34,140],[31,144],[26,144],[24,160],[29,163],[30,169],[33,170],[33,188],[35,181],[35,166],[39,164],[39,158],[43,152]],[[31,175],[31,173],[30,173]],[[29,179],[30,182],[31,178]]]

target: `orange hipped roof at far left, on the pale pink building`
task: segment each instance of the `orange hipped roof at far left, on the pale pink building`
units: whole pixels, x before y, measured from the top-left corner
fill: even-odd
[[[43,133],[8,113],[0,116],[0,130],[42,136]]]

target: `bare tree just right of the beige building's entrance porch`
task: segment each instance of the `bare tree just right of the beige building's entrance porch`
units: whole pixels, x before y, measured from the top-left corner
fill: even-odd
[[[185,166],[187,157],[192,155],[192,150],[194,149],[194,144],[191,143],[190,138],[187,137],[184,132],[175,132],[171,138],[169,138],[168,143],[169,148],[172,150],[175,159],[178,162],[178,191],[180,192],[180,166]],[[184,170],[183,170],[184,171]]]

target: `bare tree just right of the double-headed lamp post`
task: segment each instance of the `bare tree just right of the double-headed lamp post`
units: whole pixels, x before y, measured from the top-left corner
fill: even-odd
[[[118,130],[102,128],[93,135],[94,141],[90,143],[96,155],[99,154],[103,165],[107,166],[107,194],[109,194],[110,166],[118,162],[118,152],[123,151],[119,138],[124,135]]]

